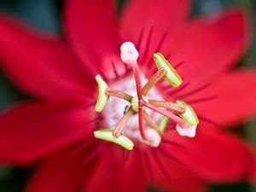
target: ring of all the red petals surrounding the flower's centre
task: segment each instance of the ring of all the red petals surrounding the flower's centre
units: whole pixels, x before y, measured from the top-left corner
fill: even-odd
[[[28,191],[143,191],[149,182],[202,191],[206,182],[237,181],[252,172],[247,146],[212,125],[236,125],[256,112],[255,71],[230,70],[247,48],[247,17],[229,9],[214,18],[186,20],[188,9],[187,0],[133,0],[118,21],[107,0],[67,1],[64,39],[0,17],[2,68],[20,89],[38,98],[0,117],[0,160],[19,165],[41,160]],[[97,123],[109,123],[108,115],[119,110],[94,119],[94,77],[102,73],[108,84],[126,86],[118,58],[127,40],[136,43],[146,78],[154,71],[151,55],[156,51],[178,67],[184,85],[158,91],[166,99],[182,98],[200,114],[195,138],[167,131],[160,147],[137,147],[129,155],[93,139],[93,125],[102,128]]]

